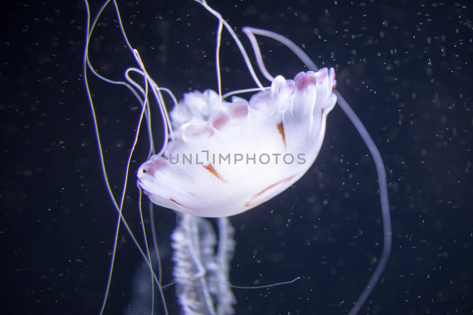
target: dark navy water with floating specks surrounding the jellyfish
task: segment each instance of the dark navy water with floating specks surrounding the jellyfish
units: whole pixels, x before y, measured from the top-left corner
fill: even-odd
[[[300,45],[319,66],[337,69],[338,90],[375,140],[389,184],[393,249],[360,314],[471,314],[472,7],[468,1],[210,1],[239,30],[269,29]],[[180,97],[216,88],[216,19],[193,1],[119,1],[131,43],[151,76]],[[99,3],[92,3],[93,13]],[[3,314],[98,314],[116,213],[101,176],[82,80],[81,1],[10,3],[1,36],[0,113]],[[100,73],[121,79],[136,66],[110,6],[91,40]],[[241,36],[248,49],[248,41]],[[285,47],[259,38],[269,71],[304,67]],[[227,45],[227,42],[229,45]],[[203,53],[205,51],[206,53]],[[224,31],[223,86],[253,86]],[[253,56],[251,56],[253,60]],[[262,76],[260,76],[263,79]],[[105,162],[118,193],[138,118],[122,87],[91,78]],[[268,84],[265,82],[264,84]],[[248,96],[247,96],[248,97]],[[159,130],[159,119],[155,119]],[[156,134],[159,142],[159,132]],[[135,170],[124,215],[140,236]],[[376,170],[337,106],[322,150],[293,187],[231,218],[236,255],[230,280],[236,314],[346,314],[382,249]],[[148,215],[145,219],[149,226]],[[172,281],[169,235],[175,214],[156,209],[164,283]],[[120,230],[105,314],[133,300],[141,258]],[[169,314],[179,314],[174,289]],[[157,303],[159,306],[159,303]],[[367,307],[369,310],[367,311]],[[131,305],[131,314],[138,308]],[[140,313],[141,314],[141,313]],[[156,314],[162,314],[157,307]]]

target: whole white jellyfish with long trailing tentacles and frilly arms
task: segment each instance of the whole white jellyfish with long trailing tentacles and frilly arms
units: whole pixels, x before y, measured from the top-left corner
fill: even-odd
[[[336,91],[333,68],[317,68],[304,51],[280,34],[244,27],[243,32],[251,43],[258,68],[271,82],[270,86],[263,86],[233,28],[205,0],[195,1],[218,21],[215,50],[218,91],[189,92],[178,102],[169,89],[160,87],[150,77],[139,51],[132,47],[127,38],[118,5],[114,0],[112,2],[123,38],[139,68],[126,70],[126,82],[110,80],[95,71],[88,58],[88,42],[100,14],[111,0],[105,1],[94,20],[90,18],[88,1],[85,0],[88,22],[83,59],[84,81],[95,123],[103,176],[118,213],[109,277],[100,313],[105,309],[113,274],[118,230],[123,224],[149,267],[150,277],[158,288],[164,312],[167,314],[163,294],[166,285],[161,282],[159,256],[158,272],[155,272],[156,265],[152,264],[146,231],[143,229],[145,248],[141,248],[122,214],[131,157],[143,122],[146,123],[148,130],[149,154],[147,161],[142,163],[137,171],[137,184],[138,189],[143,191],[153,204],[174,210],[178,217],[177,227],[172,234],[172,247],[175,251],[173,274],[179,304],[184,314],[229,315],[234,314],[232,305],[236,301],[228,280],[229,262],[235,247],[234,229],[228,217],[265,203],[286,190],[307,172],[322,146],[327,115],[335,103],[338,103],[373,155],[383,215],[382,256],[368,284],[349,312],[349,315],[357,314],[380,278],[391,249],[391,223],[385,170],[376,145],[348,102]],[[224,27],[238,46],[257,87],[222,94],[219,48]],[[293,79],[286,79],[280,75],[273,77],[264,65],[255,35],[266,36],[286,45],[306,64],[309,71],[299,72]],[[126,86],[141,104],[137,132],[128,157],[125,182],[119,200],[112,193],[108,182],[94,105],[87,81],[87,69],[108,83]],[[142,77],[142,85],[131,79],[129,75],[131,72],[138,73]],[[236,96],[247,92],[255,92],[249,101]],[[167,94],[174,103],[169,113],[163,94]],[[151,131],[149,107],[151,96],[158,103],[164,129],[164,141],[159,151],[155,150]],[[139,208],[142,217],[141,207]],[[204,218],[218,218],[218,241],[210,223]],[[153,235],[153,238],[155,237]],[[218,247],[216,252],[215,246]],[[284,283],[290,282],[292,281]]]

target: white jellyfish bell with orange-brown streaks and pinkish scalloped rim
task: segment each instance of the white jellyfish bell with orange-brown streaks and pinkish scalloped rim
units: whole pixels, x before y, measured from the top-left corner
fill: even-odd
[[[333,68],[323,68],[275,77],[249,102],[234,96],[219,106],[210,90],[185,95],[170,115],[175,138],[140,166],[140,186],[153,203],[202,217],[264,203],[315,161],[335,84]]]

